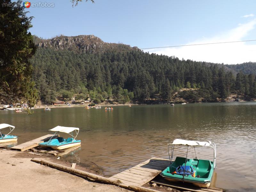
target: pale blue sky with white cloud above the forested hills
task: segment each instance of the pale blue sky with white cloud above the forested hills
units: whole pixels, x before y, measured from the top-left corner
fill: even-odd
[[[256,1],[94,0],[72,7],[67,0],[30,1],[30,32],[42,38],[95,35],[104,42],[140,49],[256,40]],[[256,62],[256,41],[145,49],[179,59],[224,64]]]

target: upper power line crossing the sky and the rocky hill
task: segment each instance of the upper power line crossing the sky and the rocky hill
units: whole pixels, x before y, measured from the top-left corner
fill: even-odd
[[[174,45],[174,46],[165,46],[165,47],[149,47],[149,48],[135,48],[135,49],[124,49],[124,50],[114,50],[114,51],[103,51],[103,52],[91,52],[91,53],[72,53],[66,55],[52,55],[52,56],[44,56],[44,57],[33,57],[30,59],[36,58],[50,58],[50,57],[62,57],[62,56],[71,56],[71,55],[83,55],[83,54],[97,54],[97,53],[108,53],[108,52],[123,52],[123,51],[134,51],[134,50],[145,50],[145,49],[160,49],[160,48],[172,48],[172,47],[185,47],[185,46],[196,46],[196,45],[210,45],[210,44],[225,44],[225,43],[239,43],[239,42],[250,42],[255,40],[244,40],[244,41],[227,41],[227,42],[216,42],[216,43],[203,43],[203,44],[188,44],[188,45]],[[71,50],[74,51],[74,50]]]

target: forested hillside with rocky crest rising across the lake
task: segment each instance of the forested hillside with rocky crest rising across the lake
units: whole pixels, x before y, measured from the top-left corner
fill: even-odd
[[[217,101],[227,98],[228,93],[256,97],[254,75],[239,72],[235,77],[232,70],[220,64],[179,60],[140,50],[116,51],[132,48],[104,43],[95,36],[91,40],[88,36],[61,36],[35,41],[38,49],[30,62],[40,99],[45,103],[52,103],[57,96],[76,96],[76,100],[90,96],[96,103],[167,101],[175,100],[174,93],[184,87],[197,89],[176,94],[176,99]]]

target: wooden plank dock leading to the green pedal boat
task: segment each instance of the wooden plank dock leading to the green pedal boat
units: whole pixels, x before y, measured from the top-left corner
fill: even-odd
[[[130,169],[113,175],[110,179],[118,179],[127,186],[142,186],[154,179],[169,165],[170,160],[153,157]]]

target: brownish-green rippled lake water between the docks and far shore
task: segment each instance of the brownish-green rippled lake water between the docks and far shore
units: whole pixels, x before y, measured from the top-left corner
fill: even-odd
[[[81,148],[65,160],[94,162],[113,175],[153,156],[169,158],[174,139],[212,141],[217,146],[216,186],[256,191],[256,102],[114,106],[113,110],[52,108],[31,116],[0,111],[0,123],[16,126],[18,144],[48,134],[57,125],[79,127]],[[66,137],[66,135],[63,135]],[[193,149],[193,150],[192,150]],[[184,155],[179,148],[175,155]],[[211,159],[211,148],[197,148],[197,158]],[[188,157],[195,157],[194,148]]]

